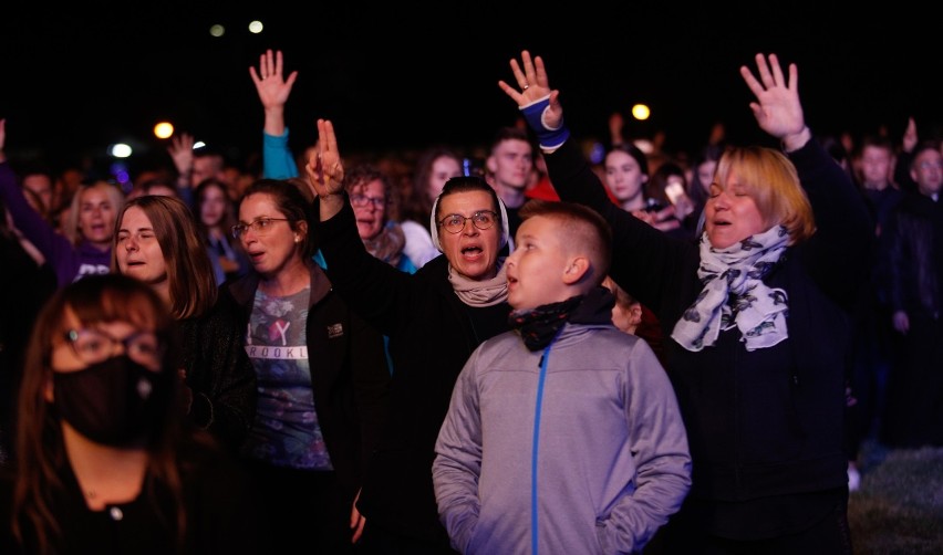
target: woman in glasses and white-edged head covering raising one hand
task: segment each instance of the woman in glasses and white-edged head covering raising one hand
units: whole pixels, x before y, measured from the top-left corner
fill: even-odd
[[[414,274],[372,256],[357,233],[331,122],[318,122],[319,151],[307,171],[318,196],[321,251],[334,290],[390,337],[395,371],[383,443],[371,458],[357,507],[365,553],[454,553],[433,491],[435,441],[452,389],[472,352],[509,328],[500,250],[508,220],[478,177],[449,179],[429,227],[445,255]]]

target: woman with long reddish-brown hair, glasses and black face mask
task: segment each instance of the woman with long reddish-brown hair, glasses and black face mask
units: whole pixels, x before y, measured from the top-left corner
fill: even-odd
[[[180,421],[177,349],[138,280],[93,275],[50,299],[0,481],[0,553],[260,553],[245,473]]]

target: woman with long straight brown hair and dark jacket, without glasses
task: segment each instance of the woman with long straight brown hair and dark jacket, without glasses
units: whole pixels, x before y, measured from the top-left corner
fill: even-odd
[[[193,212],[176,197],[134,198],[117,216],[112,271],[149,285],[179,324],[185,412],[232,453],[256,412],[256,373],[237,313],[218,303],[216,278]]]

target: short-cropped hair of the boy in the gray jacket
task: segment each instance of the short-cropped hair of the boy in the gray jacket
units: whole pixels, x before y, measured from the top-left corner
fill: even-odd
[[[592,262],[592,284],[602,283],[612,260],[612,228],[599,212],[576,202],[531,199],[519,214],[521,221],[542,216],[559,222],[570,252],[584,253]]]

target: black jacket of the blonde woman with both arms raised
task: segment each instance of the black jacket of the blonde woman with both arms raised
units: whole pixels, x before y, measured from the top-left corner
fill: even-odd
[[[545,156],[560,197],[591,206],[612,226],[611,275],[662,323],[665,367],[693,459],[688,500],[701,503],[712,531],[727,537],[800,526],[780,517],[773,500],[795,495],[792,506],[800,509],[794,514],[808,519],[810,511],[830,505],[814,501],[807,511],[806,494],[847,484],[842,439],[850,311],[868,276],[872,226],[860,193],[818,143],[789,156],[817,223],[812,238],[788,248],[764,279],[788,295],[789,337],[747,352],[734,328],[697,353],[681,347],[671,333],[703,289],[698,247],[614,206],[576,142]]]

